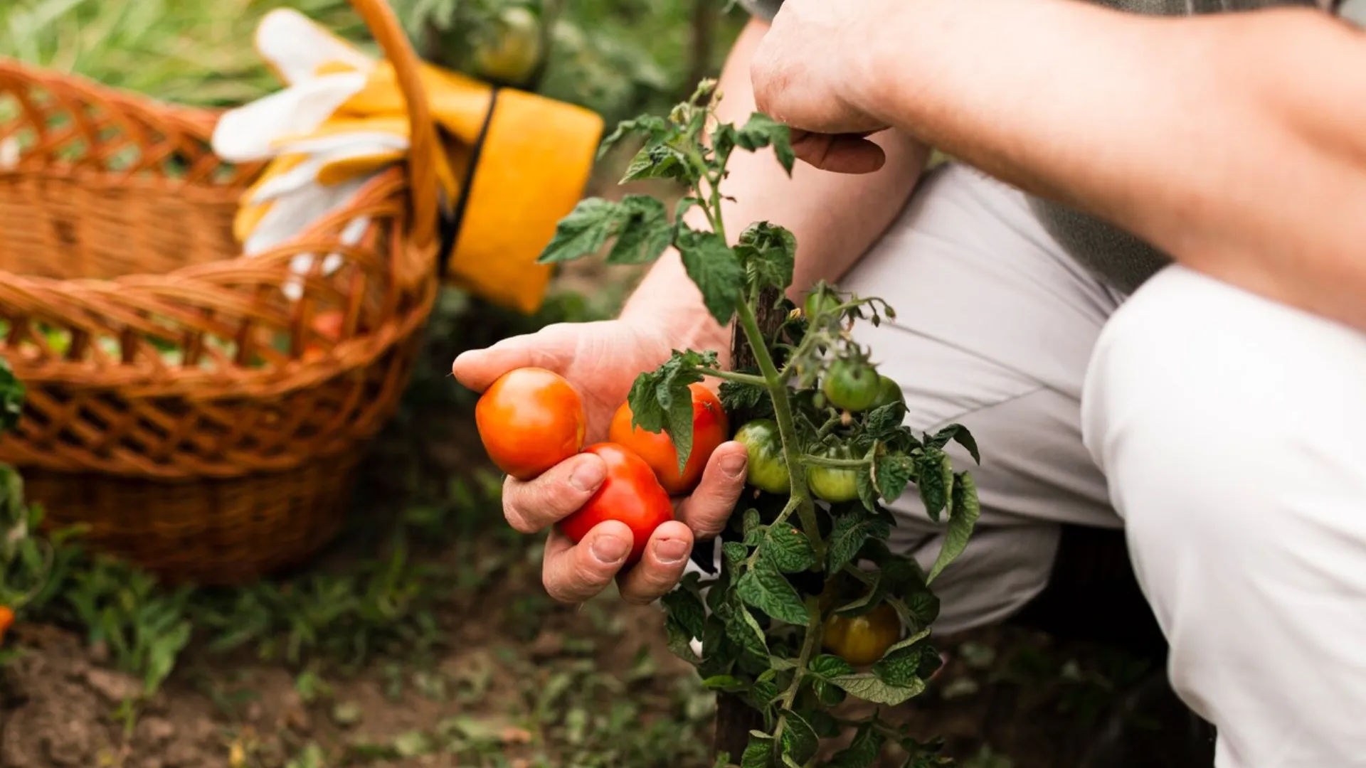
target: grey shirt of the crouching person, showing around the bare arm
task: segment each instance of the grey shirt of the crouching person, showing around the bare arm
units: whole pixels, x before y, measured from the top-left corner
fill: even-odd
[[[1090,0],[1135,14],[1183,16],[1247,11],[1269,5],[1307,5],[1317,0]],[[783,0],[740,0],[750,12],[772,19]],[[1351,0],[1347,3],[1351,5]],[[1348,14],[1344,14],[1348,15]],[[1171,260],[1139,238],[1065,205],[1031,197],[1030,205],[1044,227],[1067,251],[1111,287],[1132,292]]]

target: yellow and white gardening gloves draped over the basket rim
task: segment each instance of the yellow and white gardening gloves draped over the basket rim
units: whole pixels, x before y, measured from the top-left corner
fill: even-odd
[[[388,61],[370,57],[291,10],[268,14],[257,51],[285,85],[223,115],[213,149],[234,163],[268,161],[234,223],[247,254],[305,231],[346,205],[376,174],[408,152],[407,104]],[[583,190],[602,120],[579,107],[499,89],[423,64],[422,89],[443,134],[437,152],[445,276],[477,295],[535,312],[550,268],[535,264],[556,223]],[[346,245],[366,228],[357,219]],[[322,258],[302,254],[307,273]],[[301,295],[301,286],[285,286]]]

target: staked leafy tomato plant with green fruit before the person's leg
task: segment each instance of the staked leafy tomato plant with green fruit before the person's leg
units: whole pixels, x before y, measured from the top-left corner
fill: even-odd
[[[973,477],[955,470],[944,448],[958,441],[975,459],[977,444],[958,425],[925,433],[903,424],[900,385],[884,381],[852,335],[859,321],[893,318],[885,302],[821,283],[796,312],[783,298],[792,284],[794,235],[759,221],[729,236],[720,186],[731,154],[772,149],[788,172],[795,156],[788,128],[762,113],[743,126],[716,120],[713,87],[703,82],[667,118],[623,122],[604,142],[605,149],[643,137],[623,182],[687,187],[672,216],[649,195],[585,200],[541,256],[556,262],[605,250],[609,264],[643,264],[673,247],[706,310],[723,325],[734,323],[744,342],[746,355],[735,358],[746,362],[736,370],[723,369],[714,351],[679,350],[641,373],[630,394],[634,424],[668,435],[687,455],[690,387],[719,379],[721,403],[742,425],[735,437],[750,452],[754,491],[742,495],[721,533],[719,562],[699,563],[705,577],[687,575],[661,600],[669,648],[725,701],[753,709],[754,727],[729,728],[738,742],[719,738],[725,753],[717,765],[866,768],[887,742],[910,754],[908,767],[944,764],[933,745],[900,726],[877,715],[836,720],[829,709],[850,696],[893,707],[925,690],[938,659],[929,642],[938,614],[930,585],[962,553],[979,515]],[[682,216],[693,208],[705,215],[705,230]],[[929,571],[888,545],[896,518],[887,504],[912,484],[930,518],[944,525]],[[858,615],[870,616],[865,622],[895,615],[897,638],[885,642],[887,630],[855,633],[861,644],[851,645]],[[835,652],[821,653],[822,646]],[[848,746],[818,761],[821,739],[850,727]]]

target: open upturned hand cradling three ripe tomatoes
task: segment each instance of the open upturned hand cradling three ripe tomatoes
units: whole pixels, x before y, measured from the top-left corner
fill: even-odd
[[[616,409],[626,400],[637,374],[669,357],[663,335],[623,321],[550,325],[529,336],[469,351],[452,365],[455,377],[482,392],[515,368],[545,368],[564,376],[583,398],[589,443],[607,437]],[[643,559],[627,571],[622,564],[634,544],[631,529],[609,521],[578,544],[552,526],[582,507],[607,477],[602,459],[581,454],[526,482],[507,478],[503,514],[522,533],[550,527],[542,563],[546,592],[564,603],[582,603],[617,578],[622,597],[650,603],[678,584],[694,540],[712,538],[725,526],[744,486],[747,455],[739,443],[724,443],[712,454],[702,482],[679,500],[673,522],[654,530]]]

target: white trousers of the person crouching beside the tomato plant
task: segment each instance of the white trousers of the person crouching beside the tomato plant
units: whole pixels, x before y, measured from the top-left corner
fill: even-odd
[[[959,165],[841,287],[897,310],[861,342],[908,422],[981,445],[941,631],[1042,590],[1060,522],[1124,526],[1220,768],[1366,767],[1366,336],[1177,266],[1126,299]],[[932,560],[918,499],[895,511],[895,543]]]

